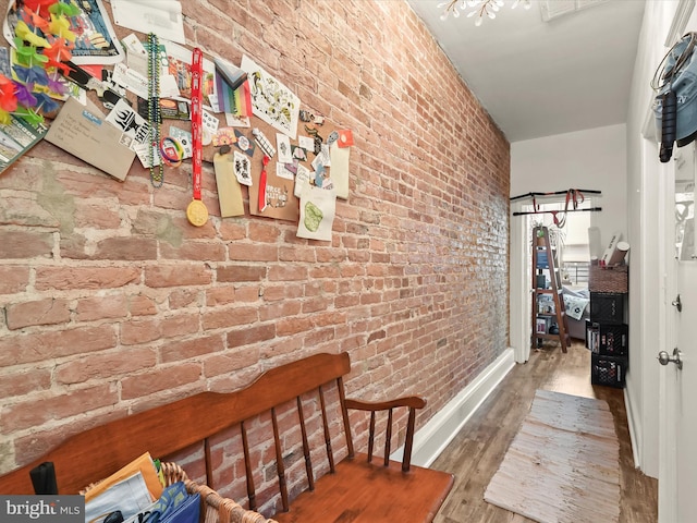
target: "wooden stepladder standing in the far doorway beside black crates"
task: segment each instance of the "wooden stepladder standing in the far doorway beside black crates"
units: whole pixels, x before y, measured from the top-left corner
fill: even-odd
[[[549,242],[549,230],[543,226],[535,227],[533,229],[533,336],[530,342],[533,349],[538,349],[541,346],[542,340],[559,339],[562,352],[566,352],[571,340],[566,325],[566,307],[562,295],[561,275],[554,265],[557,262],[554,256],[554,250]],[[547,258],[547,267],[543,264],[545,257]],[[549,289],[547,285],[538,287],[538,282],[547,281],[546,270],[549,271]],[[548,300],[541,299],[546,295],[552,296],[553,311],[540,309],[541,306],[545,306],[545,303],[540,304],[540,302],[548,302]],[[549,332],[552,318],[557,320],[558,333]]]

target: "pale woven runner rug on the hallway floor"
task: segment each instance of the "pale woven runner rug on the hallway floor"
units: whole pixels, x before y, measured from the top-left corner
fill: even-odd
[[[608,403],[536,391],[484,499],[539,523],[616,523],[620,443]]]

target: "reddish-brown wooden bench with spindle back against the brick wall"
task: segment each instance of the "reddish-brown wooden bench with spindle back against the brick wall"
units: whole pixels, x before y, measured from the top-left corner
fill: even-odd
[[[33,463],[0,476],[0,494],[33,494],[29,471],[42,462],[53,463],[60,494],[75,494],[95,481],[108,477],[145,451],[154,458],[167,460],[178,452],[195,448],[192,446],[201,448],[198,453],[204,457],[207,485],[220,488],[212,484],[209,440],[222,430],[239,426],[247,500],[249,510],[256,511],[259,501],[264,503],[267,500],[257,499],[255,485],[259,478],[262,479],[262,474],[253,470],[250,464],[248,425],[258,416],[269,416],[270,413],[271,423],[267,424],[270,425],[267,431],[270,433],[268,440],[272,440],[272,454],[276,457],[278,478],[273,483],[278,486],[276,495],[280,492],[281,506],[272,518],[279,523],[431,521],[452,487],[453,476],[411,464],[416,410],[424,408],[426,401],[418,397],[381,403],[346,399],[343,376],[350,372],[348,354],[316,354],[272,368],[234,392],[201,392],[96,426],[70,437]],[[328,401],[328,397],[333,399],[333,403]],[[332,418],[328,408],[331,405],[338,405],[334,411],[340,412],[341,419]],[[407,411],[396,412],[408,412],[402,463],[389,460],[393,411],[398,408]],[[320,438],[308,436],[305,411],[310,409],[315,418],[321,421],[321,427],[315,424],[319,433],[323,433]],[[288,414],[291,410],[295,411],[293,416]],[[354,451],[348,414],[353,410],[370,413],[369,422],[364,418],[369,427],[366,453]],[[380,411],[384,411],[380,425],[387,417],[384,458],[374,459],[376,412]],[[279,412],[284,414],[283,423],[279,423]],[[281,433],[281,425],[292,425],[289,423],[291,417],[297,423]],[[354,414],[354,418],[358,417]],[[257,430],[258,426],[254,429]],[[294,449],[284,448],[286,441],[293,440],[292,435],[288,436],[290,431],[299,433]],[[310,445],[313,440],[316,441],[314,447]],[[284,457],[294,451],[303,454],[304,477],[295,483],[301,483],[304,491],[289,496]],[[328,472],[317,477],[317,470]],[[291,488],[291,492],[297,489]],[[295,499],[291,502],[293,497]]]

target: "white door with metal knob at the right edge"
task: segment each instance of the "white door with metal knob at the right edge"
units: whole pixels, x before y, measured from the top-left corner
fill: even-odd
[[[661,379],[659,521],[697,521],[697,258],[694,250],[694,146],[665,169],[667,337]],[[673,177],[674,174],[674,177]],[[672,185],[672,186],[670,186]],[[673,188],[674,187],[674,188]],[[673,188],[673,191],[670,191]],[[671,194],[672,193],[672,194]],[[672,199],[671,198],[671,199]],[[678,204],[674,202],[680,200]],[[671,203],[673,205],[671,206]],[[678,299],[680,295],[680,299]],[[680,351],[680,364],[676,354]],[[670,361],[667,361],[667,356]],[[682,368],[681,368],[682,366]]]

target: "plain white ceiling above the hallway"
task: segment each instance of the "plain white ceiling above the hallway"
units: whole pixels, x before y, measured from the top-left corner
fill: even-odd
[[[407,1],[510,142],[626,122],[645,0],[550,22],[538,0],[506,2],[479,27],[465,15],[442,21],[442,0]]]

